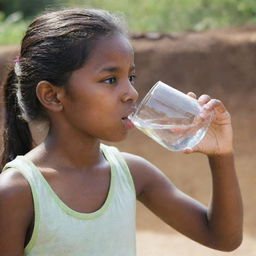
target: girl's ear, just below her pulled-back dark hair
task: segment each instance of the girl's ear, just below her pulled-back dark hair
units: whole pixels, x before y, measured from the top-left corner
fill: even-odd
[[[62,98],[65,90],[62,86],[54,86],[48,81],[40,81],[36,87],[36,95],[41,104],[49,111],[62,111]]]

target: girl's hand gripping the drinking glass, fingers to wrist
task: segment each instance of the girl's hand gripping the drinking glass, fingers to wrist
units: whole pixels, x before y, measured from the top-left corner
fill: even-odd
[[[194,93],[188,93],[196,98]],[[184,153],[201,152],[207,155],[222,155],[233,152],[233,132],[230,114],[220,100],[202,95],[198,103],[203,107],[202,118],[213,112],[212,122],[202,141],[193,148],[185,148]]]

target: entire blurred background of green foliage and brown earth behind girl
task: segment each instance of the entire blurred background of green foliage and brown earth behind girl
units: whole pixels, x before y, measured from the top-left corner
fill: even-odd
[[[183,92],[219,98],[232,115],[245,211],[240,248],[224,253],[198,245],[138,203],[138,256],[255,256],[256,1],[0,0],[0,83],[13,65],[19,42],[33,17],[45,10],[67,7],[107,9],[126,19],[135,50],[140,99],[162,80]],[[2,98],[0,107],[2,127]],[[136,129],[114,145],[150,160],[177,187],[208,204],[211,179],[205,156],[170,152]]]

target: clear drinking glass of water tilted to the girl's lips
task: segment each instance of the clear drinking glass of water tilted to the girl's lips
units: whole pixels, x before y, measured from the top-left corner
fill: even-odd
[[[159,81],[129,119],[163,147],[180,151],[204,137],[213,114],[202,119],[202,111],[197,100]]]

